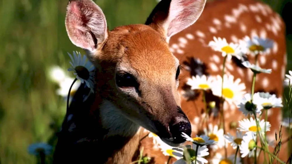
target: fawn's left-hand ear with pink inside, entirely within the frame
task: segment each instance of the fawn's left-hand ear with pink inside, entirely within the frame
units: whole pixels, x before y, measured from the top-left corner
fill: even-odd
[[[105,15],[92,0],[69,0],[65,26],[71,42],[90,52],[108,37]]]

